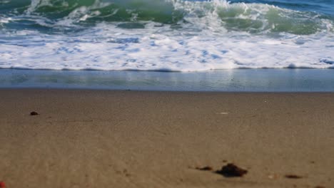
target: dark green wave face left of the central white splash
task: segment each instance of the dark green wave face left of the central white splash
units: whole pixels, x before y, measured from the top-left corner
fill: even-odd
[[[175,23],[181,16],[173,4],[154,0],[33,0],[26,12],[74,23],[96,21],[156,21]]]

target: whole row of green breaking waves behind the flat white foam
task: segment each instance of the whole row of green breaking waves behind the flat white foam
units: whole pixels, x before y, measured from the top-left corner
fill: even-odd
[[[1,1],[2,2],[2,1]],[[267,4],[230,4],[225,0],[11,0],[0,4],[0,13],[24,19],[46,19],[49,27],[85,26],[101,22],[128,22],[125,28],[144,27],[146,21],[187,23],[200,30],[309,35],[333,32],[333,18],[312,12],[292,11]],[[29,16],[32,16],[31,18]],[[40,24],[40,23],[35,23]]]

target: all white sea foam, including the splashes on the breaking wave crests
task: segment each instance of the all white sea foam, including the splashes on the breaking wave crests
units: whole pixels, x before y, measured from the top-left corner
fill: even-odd
[[[26,30],[2,32],[0,68],[138,71],[334,68],[332,21],[322,20],[323,30],[305,36],[282,32],[270,36],[263,28],[262,33],[251,34],[226,29],[226,23],[219,17],[221,9],[240,12],[237,17],[242,19],[263,21],[263,27],[269,24],[262,18],[263,13],[290,11],[263,4],[228,4],[223,0],[210,3],[168,1],[175,9],[187,12],[186,22],[178,23],[181,28],[148,21],[142,22],[145,24],[143,29],[119,28],[119,23],[100,23],[75,36]],[[27,12],[48,3],[49,0],[34,0]],[[96,1],[92,6],[81,6],[59,19],[54,26],[73,26],[74,22],[100,14],[89,10],[107,5]],[[205,13],[204,16],[198,16],[198,11]],[[291,14],[295,12],[291,11]],[[33,16],[31,18],[40,25],[52,27],[49,21]],[[0,23],[8,21],[0,19]]]

